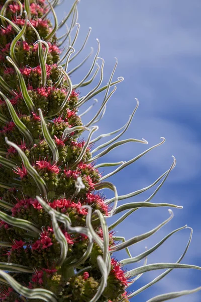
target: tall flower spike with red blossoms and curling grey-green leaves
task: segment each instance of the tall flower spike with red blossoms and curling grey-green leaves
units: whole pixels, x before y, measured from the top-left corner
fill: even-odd
[[[128,250],[129,246],[148,238],[166,224],[173,216],[171,210],[167,220],[146,234],[127,241],[114,236],[113,229],[140,207],[177,207],[150,202],[174,168],[175,159],[170,169],[153,184],[128,195],[118,197],[116,187],[105,181],[162,144],[164,139],[128,162],[95,164],[96,160],[121,144],[147,141],[117,141],[129,127],[138,101],[124,127],[92,139],[98,128],[94,124],[103,117],[106,103],[116,90],[115,85],[123,78],[112,81],[116,63],[108,85],[99,88],[103,80],[104,60],[98,57],[97,41],[98,49],[89,71],[79,84],[71,83],[69,75],[90,56],[67,72],[68,63],[84,48],[90,33],[89,30],[82,47],[73,55],[79,32],[77,3],[75,1],[69,14],[58,23],[54,12],[58,0],[51,3],[44,3],[44,0],[0,2],[1,301],[126,302],[173,268],[200,269],[179,264],[188,249],[192,231],[176,264],[146,264],[150,253],[186,226],[168,234],[157,245],[136,257],[132,257]],[[54,25],[48,19],[49,14],[53,15]],[[69,20],[67,33],[57,38],[56,31]],[[74,27],[77,29],[71,41],[70,32]],[[102,62],[100,67],[97,61]],[[96,69],[89,78],[94,67]],[[79,98],[77,89],[92,83],[99,69],[97,86]],[[115,88],[109,92],[112,86]],[[78,108],[102,91],[106,92],[102,105],[94,118],[83,125]],[[83,131],[88,133],[85,141],[81,138]],[[94,147],[102,137],[118,132],[107,143]],[[105,148],[104,151],[94,155],[101,148]],[[102,176],[97,168],[104,166],[118,168]],[[159,186],[146,201],[117,206],[118,200],[140,194],[157,183]],[[100,192],[105,188],[113,190],[115,197],[106,199]],[[128,210],[126,214],[107,226],[106,218],[125,210]],[[123,249],[129,257],[117,261],[114,252]],[[130,271],[123,268],[142,259],[145,259],[143,266]],[[129,291],[129,286],[143,272],[160,268],[168,270],[139,290]],[[180,292],[177,296],[189,292],[192,291]],[[175,293],[150,301],[172,297]]]

